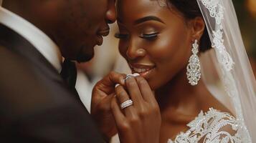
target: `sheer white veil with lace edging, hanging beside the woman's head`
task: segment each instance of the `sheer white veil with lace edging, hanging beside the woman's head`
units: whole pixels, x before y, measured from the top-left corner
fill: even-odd
[[[197,2],[213,48],[200,57],[204,83],[240,121],[242,140],[256,142],[256,82],[232,0]]]

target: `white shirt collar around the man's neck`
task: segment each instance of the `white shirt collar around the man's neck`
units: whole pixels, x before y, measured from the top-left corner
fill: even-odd
[[[57,71],[62,69],[60,49],[49,36],[22,17],[0,6],[0,23],[27,39]]]

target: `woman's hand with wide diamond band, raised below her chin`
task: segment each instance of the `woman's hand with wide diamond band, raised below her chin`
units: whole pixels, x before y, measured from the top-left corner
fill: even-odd
[[[115,88],[111,108],[118,128],[120,142],[159,142],[161,114],[158,103],[143,77],[131,77]],[[120,109],[120,104],[132,99],[133,105]]]

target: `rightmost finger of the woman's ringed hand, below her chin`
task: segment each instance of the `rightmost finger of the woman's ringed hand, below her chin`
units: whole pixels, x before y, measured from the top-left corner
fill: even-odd
[[[150,104],[157,104],[156,98],[153,95],[151,87],[149,87],[148,82],[141,76],[136,77],[138,82],[138,87],[141,89],[141,94],[143,99]]]

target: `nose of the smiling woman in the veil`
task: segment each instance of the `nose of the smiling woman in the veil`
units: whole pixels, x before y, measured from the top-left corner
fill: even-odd
[[[143,57],[146,55],[146,50],[138,47],[135,43],[131,42],[128,46],[128,49],[126,51],[126,56],[128,56],[129,59],[136,59],[138,57]]]

